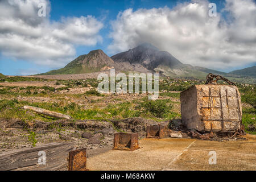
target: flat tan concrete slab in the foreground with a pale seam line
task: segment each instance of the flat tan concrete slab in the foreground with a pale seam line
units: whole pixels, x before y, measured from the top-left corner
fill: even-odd
[[[256,170],[256,136],[216,142],[198,139],[141,139],[133,152],[110,150],[87,160],[89,170]],[[217,154],[209,164],[209,151]]]

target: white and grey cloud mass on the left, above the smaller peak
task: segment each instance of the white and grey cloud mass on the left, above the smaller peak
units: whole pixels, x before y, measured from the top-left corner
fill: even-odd
[[[38,16],[39,3],[46,4],[46,17]],[[93,16],[51,22],[50,10],[48,0],[0,1],[0,52],[54,68],[75,57],[74,46],[102,41],[98,33],[103,24]]]

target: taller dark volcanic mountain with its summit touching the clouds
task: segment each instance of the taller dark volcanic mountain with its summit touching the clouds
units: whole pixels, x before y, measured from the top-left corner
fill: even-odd
[[[183,64],[172,56],[171,53],[160,51],[148,43],[143,43],[129,51],[118,53],[111,58],[115,63],[141,64],[152,72],[160,72],[162,75],[170,77],[205,78],[209,72],[225,75],[224,72]]]

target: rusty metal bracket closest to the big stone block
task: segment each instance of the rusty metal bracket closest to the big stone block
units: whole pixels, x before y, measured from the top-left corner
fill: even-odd
[[[147,138],[165,138],[167,134],[167,125],[149,125],[146,129]]]

